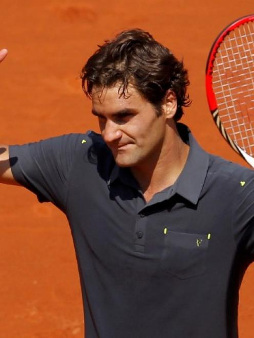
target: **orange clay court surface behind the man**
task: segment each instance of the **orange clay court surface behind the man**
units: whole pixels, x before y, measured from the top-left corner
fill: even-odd
[[[79,72],[97,44],[139,27],[184,57],[193,103],[183,122],[199,143],[246,165],[210,116],[205,65],[218,33],[251,12],[253,0],[1,0],[0,47],[9,55],[0,66],[0,142],[98,131]],[[0,192],[0,337],[82,338],[79,277],[65,216],[24,188],[2,185]],[[253,282],[250,266],[240,292],[240,338],[253,337]]]

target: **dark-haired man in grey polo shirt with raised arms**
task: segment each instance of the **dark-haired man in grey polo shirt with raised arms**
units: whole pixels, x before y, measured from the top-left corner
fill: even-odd
[[[0,172],[66,213],[87,338],[236,338],[253,172],[177,122],[187,71],[149,33],[105,42],[81,78],[101,135],[2,146]]]

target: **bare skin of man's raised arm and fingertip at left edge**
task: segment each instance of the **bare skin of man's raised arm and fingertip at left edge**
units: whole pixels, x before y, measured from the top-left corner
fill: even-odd
[[[4,60],[8,51],[2,49],[0,51],[0,62]],[[19,185],[11,172],[10,161],[9,161],[9,147],[6,145],[0,145],[0,183]]]

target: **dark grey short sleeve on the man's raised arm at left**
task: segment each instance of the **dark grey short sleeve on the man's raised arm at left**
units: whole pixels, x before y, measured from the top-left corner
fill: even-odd
[[[86,134],[67,134],[24,145],[9,147],[15,180],[37,195],[65,209],[68,180],[78,149]]]

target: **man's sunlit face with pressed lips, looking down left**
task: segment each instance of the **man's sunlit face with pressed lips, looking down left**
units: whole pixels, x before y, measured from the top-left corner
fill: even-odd
[[[98,116],[101,136],[120,167],[138,167],[156,161],[165,136],[165,115],[129,85],[128,97],[119,97],[119,86],[94,87],[92,112]]]

